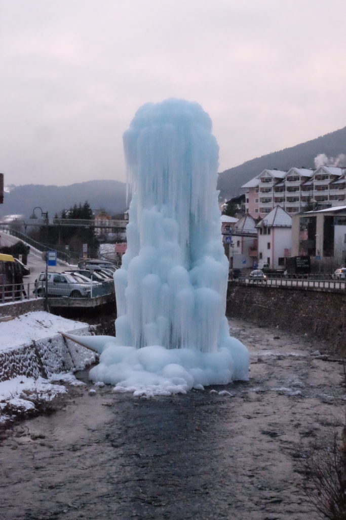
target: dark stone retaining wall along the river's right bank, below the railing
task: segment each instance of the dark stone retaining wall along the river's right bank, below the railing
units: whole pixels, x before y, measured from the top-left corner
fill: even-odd
[[[346,354],[346,293],[256,287],[229,282],[227,316],[279,327],[326,342],[330,353]]]

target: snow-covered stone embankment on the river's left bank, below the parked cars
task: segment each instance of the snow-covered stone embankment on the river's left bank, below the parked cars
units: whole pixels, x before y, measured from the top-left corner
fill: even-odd
[[[37,311],[1,322],[0,331],[0,424],[66,392],[54,381],[80,384],[72,372],[95,361],[90,350],[59,334],[89,335],[87,323]]]

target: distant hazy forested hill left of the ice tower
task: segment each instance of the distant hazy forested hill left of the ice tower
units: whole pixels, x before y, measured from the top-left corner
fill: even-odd
[[[5,179],[6,181],[6,179]],[[4,193],[4,204],[0,205],[0,215],[19,214],[29,217],[35,206],[53,217],[74,204],[89,202],[94,209],[105,209],[110,215],[126,211],[126,184],[117,180],[89,180],[70,186],[43,186],[25,184]],[[39,210],[36,210],[39,217]]]

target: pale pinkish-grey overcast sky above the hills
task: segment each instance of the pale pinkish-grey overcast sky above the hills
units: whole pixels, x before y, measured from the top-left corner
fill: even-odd
[[[345,27],[344,0],[0,0],[5,184],[125,180],[123,132],[169,97],[219,171],[342,128]]]

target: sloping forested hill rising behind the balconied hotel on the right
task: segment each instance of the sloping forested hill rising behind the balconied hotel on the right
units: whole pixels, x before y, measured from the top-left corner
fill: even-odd
[[[320,153],[327,157],[336,158],[341,153],[346,153],[346,126],[330,134],[317,137],[300,145],[285,148],[278,152],[268,153],[246,161],[239,166],[219,174],[217,189],[220,197],[230,199],[241,193],[240,187],[248,180],[256,177],[263,170],[289,170],[293,166],[298,168],[314,168],[314,158]],[[343,165],[342,165],[343,166]]]

